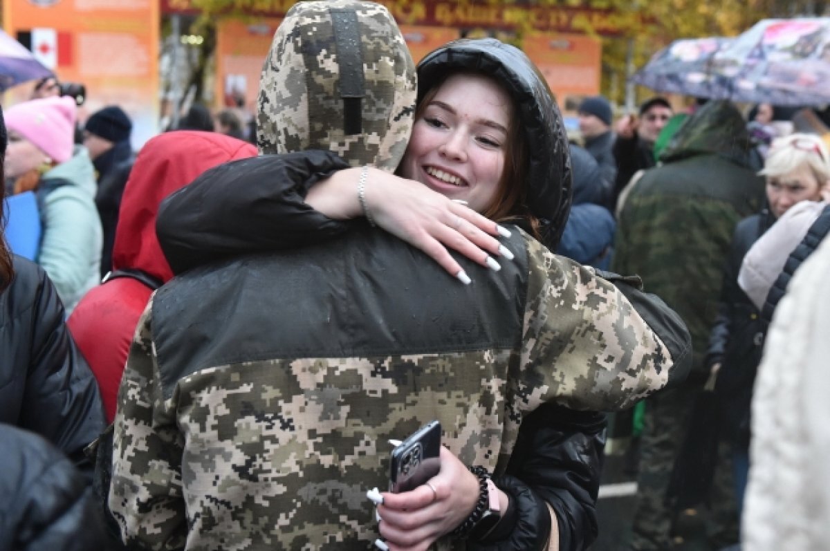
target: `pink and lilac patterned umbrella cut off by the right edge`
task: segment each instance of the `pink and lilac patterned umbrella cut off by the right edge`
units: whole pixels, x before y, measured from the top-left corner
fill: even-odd
[[[715,97],[773,105],[830,103],[830,17],[764,19],[718,51]]]

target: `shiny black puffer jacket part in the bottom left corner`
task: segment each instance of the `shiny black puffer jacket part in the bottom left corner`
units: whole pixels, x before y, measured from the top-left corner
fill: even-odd
[[[104,549],[92,489],[61,451],[5,424],[0,449],[0,549]]]

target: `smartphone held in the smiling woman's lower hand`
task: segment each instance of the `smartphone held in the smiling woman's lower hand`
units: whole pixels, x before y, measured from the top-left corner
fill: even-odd
[[[407,492],[441,471],[441,423],[432,421],[392,451],[389,491]]]

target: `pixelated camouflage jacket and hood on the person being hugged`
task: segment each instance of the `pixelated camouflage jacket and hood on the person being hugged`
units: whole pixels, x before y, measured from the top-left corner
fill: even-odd
[[[364,134],[346,138],[330,16],[351,7],[368,91]],[[409,137],[414,100],[413,63],[385,8],[298,3],[263,69],[260,149],[330,149],[350,163],[392,170]],[[617,409],[684,377],[686,366],[675,365],[680,360],[607,280],[552,255],[518,228],[505,246],[516,261],[496,275],[486,272],[498,286],[459,285],[440,266],[425,265],[420,252],[367,225],[313,251],[247,256],[189,271],[162,287],[136,330],[115,417],[109,505],[127,543],[193,551],[372,549],[378,532],[365,492],[387,485],[389,438],[438,419],[442,442],[461,461],[499,475],[522,418],[541,403]],[[369,269],[378,259],[382,269]],[[330,276],[335,264],[339,281]],[[461,340],[450,352],[443,341],[418,354],[389,347],[399,341],[385,338],[416,317],[402,312],[399,301],[401,286],[416,273],[439,296],[437,317],[447,316],[446,325],[432,324],[441,339],[447,327],[486,325],[485,314],[461,316],[444,298],[458,293],[468,307],[500,299],[513,320],[493,324],[506,334],[499,334],[503,344],[472,342],[458,330]],[[347,284],[353,285],[344,294]],[[410,293],[426,308],[422,289],[413,285]],[[504,295],[494,298],[494,291]],[[334,311],[334,319],[352,313],[337,308],[343,304],[379,302],[393,314],[380,318],[388,323],[350,315],[341,320],[347,330],[322,311],[319,318],[291,319],[296,309],[285,305],[298,296],[305,303],[331,297],[319,310]],[[242,361],[251,349],[267,347],[231,339],[222,348],[237,330],[253,334],[251,326],[269,346],[285,335],[313,334],[310,342],[325,339],[356,351],[333,357],[311,347],[300,357],[275,352]],[[291,342],[296,349],[305,345]],[[396,352],[372,355],[363,346]],[[198,353],[167,352],[193,347]],[[173,357],[176,362],[165,363]],[[434,547],[464,544],[442,539]]]

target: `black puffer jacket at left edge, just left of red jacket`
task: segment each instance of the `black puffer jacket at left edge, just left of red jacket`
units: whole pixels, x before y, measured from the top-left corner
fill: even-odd
[[[84,447],[104,430],[98,384],[46,272],[14,256],[0,294],[0,422],[36,433],[90,477]]]

